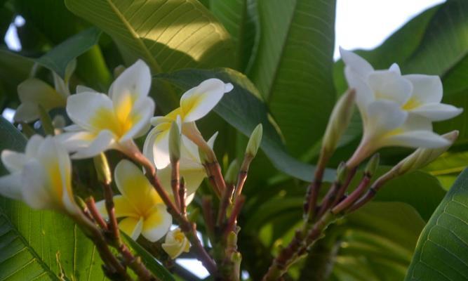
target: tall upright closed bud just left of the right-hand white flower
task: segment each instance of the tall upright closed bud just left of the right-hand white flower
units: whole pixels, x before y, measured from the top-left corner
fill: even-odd
[[[335,107],[333,107],[325,134],[323,135],[322,153],[325,153],[325,157],[327,158],[335,151],[342,133],[345,132],[351,121],[355,98],[356,91],[349,89],[337,101]]]

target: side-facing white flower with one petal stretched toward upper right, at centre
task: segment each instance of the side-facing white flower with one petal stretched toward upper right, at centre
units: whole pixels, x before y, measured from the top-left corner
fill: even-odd
[[[149,159],[154,159],[157,169],[163,169],[171,163],[169,159],[169,129],[178,117],[182,123],[182,133],[199,147],[206,146],[201,133],[196,129],[195,121],[210,112],[221,100],[222,96],[232,91],[230,83],[225,84],[220,79],[207,79],[199,86],[186,91],[180,98],[180,107],[168,115],[154,117],[151,124],[154,129],[148,133],[144,152]]]

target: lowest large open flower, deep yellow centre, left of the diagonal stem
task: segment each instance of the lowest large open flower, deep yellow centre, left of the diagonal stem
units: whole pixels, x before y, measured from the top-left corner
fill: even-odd
[[[114,196],[115,216],[123,218],[119,228],[133,240],[140,234],[151,242],[161,239],[171,227],[172,216],[141,169],[122,160],[115,168],[114,178],[121,192]],[[96,205],[102,216],[108,218],[105,201]]]

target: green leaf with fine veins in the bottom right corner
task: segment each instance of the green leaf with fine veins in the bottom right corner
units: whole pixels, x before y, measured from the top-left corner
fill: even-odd
[[[468,279],[468,170],[464,170],[422,230],[407,281]]]

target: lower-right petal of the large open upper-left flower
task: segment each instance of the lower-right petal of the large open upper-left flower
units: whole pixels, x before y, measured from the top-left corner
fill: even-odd
[[[154,101],[152,98],[141,98],[140,102],[135,104],[131,115],[131,129],[127,131],[120,139],[120,141],[128,141],[132,138],[138,138],[149,130],[149,119],[154,115]]]

